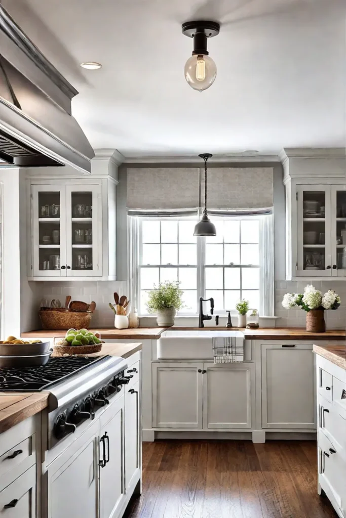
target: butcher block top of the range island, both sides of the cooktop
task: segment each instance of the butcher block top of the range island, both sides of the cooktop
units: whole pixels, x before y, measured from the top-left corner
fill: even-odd
[[[140,342],[104,343],[100,352],[88,354],[88,356],[109,354],[128,358],[141,349],[142,343]],[[48,392],[0,392],[0,434],[44,410],[47,407],[48,395]]]

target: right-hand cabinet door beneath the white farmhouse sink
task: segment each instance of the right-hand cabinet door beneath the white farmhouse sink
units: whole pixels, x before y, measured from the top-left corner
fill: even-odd
[[[203,428],[251,428],[254,364],[204,364],[204,370]]]

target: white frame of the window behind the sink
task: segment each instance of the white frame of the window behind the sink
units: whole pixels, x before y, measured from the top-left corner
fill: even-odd
[[[198,306],[199,298],[200,297],[205,298],[205,268],[206,267],[223,268],[224,279],[225,279],[225,268],[258,268],[259,267],[260,268],[260,286],[259,286],[260,307],[257,309],[259,309],[261,316],[273,316],[274,315],[273,216],[272,216],[272,214],[270,214],[270,215],[266,214],[266,216],[270,217],[269,219],[266,220],[265,225],[267,225],[267,226],[260,224],[260,242],[259,242],[259,256],[260,256],[259,263],[260,264],[259,265],[241,265],[241,264],[240,265],[235,265],[235,264],[234,265],[225,265],[225,264],[206,265],[205,264],[206,239],[204,237],[200,237],[197,239],[197,300],[196,300],[197,311],[198,311],[198,307],[199,307]],[[211,219],[213,221],[216,221],[216,220],[224,220],[225,218],[237,219],[240,221],[241,220],[248,221],[251,219],[260,220],[262,222],[265,221],[263,219],[264,218],[263,214],[257,214],[257,215],[236,215],[236,214],[234,214],[231,217],[227,216],[227,215],[212,216]],[[132,235],[131,234],[129,235],[129,240],[130,240],[129,250],[133,250],[133,252],[134,252],[134,253],[132,253],[132,260],[129,261],[129,263],[131,264],[131,267],[129,268],[129,279],[130,279],[129,280],[129,293],[132,296],[132,300],[135,301],[136,307],[139,309],[139,311],[141,311],[141,309],[142,309],[139,307],[139,305],[140,305],[139,296],[140,296],[140,292],[141,292],[141,268],[142,267],[145,267],[145,268],[165,268],[165,267],[167,267],[167,268],[179,268],[179,267],[196,268],[196,266],[194,266],[194,265],[182,265],[182,264],[148,265],[148,266],[141,265],[142,257],[140,255],[142,253],[142,221],[150,220],[150,219],[153,219],[153,217],[136,218],[137,224],[135,225],[135,227],[136,227],[137,236],[135,237],[133,235],[133,233],[132,233]],[[184,216],[161,217],[160,215],[158,215],[155,219],[161,220],[161,221],[162,220],[172,221],[172,219],[177,220],[177,221],[182,220],[182,219],[193,220],[196,222],[198,221],[196,216],[189,218],[186,216],[185,217]],[[264,230],[264,227],[265,227],[265,230]],[[264,237],[265,232],[267,234]],[[262,243],[264,243],[266,241],[265,246],[262,244],[262,249],[263,249],[262,251],[261,251],[261,241],[262,241]],[[134,245],[134,242],[137,243],[137,246]],[[161,242],[161,240],[160,240],[160,242]],[[177,242],[178,242],[178,239],[177,239]],[[240,242],[241,242],[241,237],[240,237]],[[268,242],[269,242],[269,245],[268,245]],[[241,244],[247,244],[247,243],[241,243]],[[253,243],[249,243],[249,244],[253,244]],[[134,255],[136,257],[133,260]],[[135,272],[134,272],[134,269],[135,269]],[[225,285],[225,281],[224,281],[224,285]],[[219,289],[219,290],[215,290],[215,291],[225,291],[225,288],[223,287],[223,289]],[[241,285],[240,285],[240,291],[241,291]],[[229,309],[229,308],[224,308],[224,311],[226,311],[227,309]],[[215,308],[215,311],[218,314],[222,314],[222,310],[220,310],[220,308]],[[197,312],[196,313],[184,312],[184,311],[179,312],[180,316],[184,316],[184,315],[185,316],[196,316],[197,314],[198,314]],[[237,314],[237,311],[234,308],[232,308],[231,314]],[[140,316],[148,316],[148,313],[144,313],[142,310],[142,312],[140,312]]]

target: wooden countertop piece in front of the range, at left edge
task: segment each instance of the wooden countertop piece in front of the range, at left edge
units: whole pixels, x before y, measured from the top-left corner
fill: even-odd
[[[47,407],[48,392],[0,392],[0,434]]]

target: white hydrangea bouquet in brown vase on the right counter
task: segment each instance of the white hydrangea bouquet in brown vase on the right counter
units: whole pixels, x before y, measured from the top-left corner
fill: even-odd
[[[324,321],[325,309],[338,309],[341,299],[334,290],[328,290],[324,295],[312,284],[308,284],[304,293],[286,293],[282,305],[285,309],[301,308],[307,311],[307,331],[323,333],[326,330]]]

